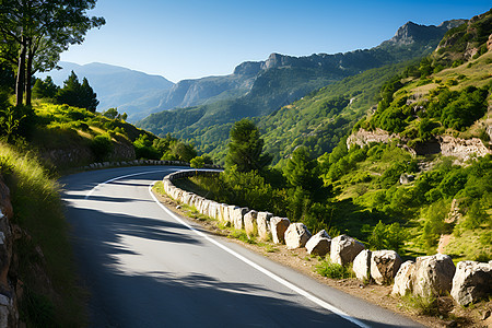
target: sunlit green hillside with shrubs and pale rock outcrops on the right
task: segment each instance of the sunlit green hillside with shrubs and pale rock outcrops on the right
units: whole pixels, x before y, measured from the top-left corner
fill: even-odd
[[[450,30],[385,83],[347,142],[318,159],[344,218],[339,227],[370,239],[364,231],[378,220],[398,222],[407,251],[491,259],[491,23],[488,12]]]

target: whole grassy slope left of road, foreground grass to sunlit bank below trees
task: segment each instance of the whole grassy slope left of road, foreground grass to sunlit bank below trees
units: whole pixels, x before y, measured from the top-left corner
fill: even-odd
[[[17,141],[15,148],[0,142],[0,176],[11,189],[12,223],[25,232],[14,244],[19,260],[13,265],[24,290],[21,320],[28,327],[84,326],[85,295],[77,284],[56,172],[94,161],[93,143],[98,136],[107,137],[114,147],[131,149],[141,133],[155,137],[119,119],[38,101],[34,116],[23,122],[27,141]],[[89,155],[62,167],[39,157],[54,150],[74,149]],[[112,160],[109,152],[105,156]]]

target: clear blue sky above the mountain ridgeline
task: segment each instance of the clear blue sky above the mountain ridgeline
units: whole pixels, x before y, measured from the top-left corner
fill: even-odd
[[[104,62],[173,82],[225,75],[243,61],[377,46],[408,21],[438,25],[488,11],[490,0],[98,0],[91,30],[61,60]]]

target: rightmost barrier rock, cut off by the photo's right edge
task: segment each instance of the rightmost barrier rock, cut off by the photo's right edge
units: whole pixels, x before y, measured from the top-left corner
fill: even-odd
[[[492,293],[492,265],[460,261],[456,266],[450,295],[462,306],[487,298]]]

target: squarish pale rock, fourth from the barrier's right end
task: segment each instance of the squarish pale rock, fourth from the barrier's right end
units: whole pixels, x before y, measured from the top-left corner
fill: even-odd
[[[401,262],[395,250],[375,250],[371,255],[371,278],[377,284],[390,284]]]

